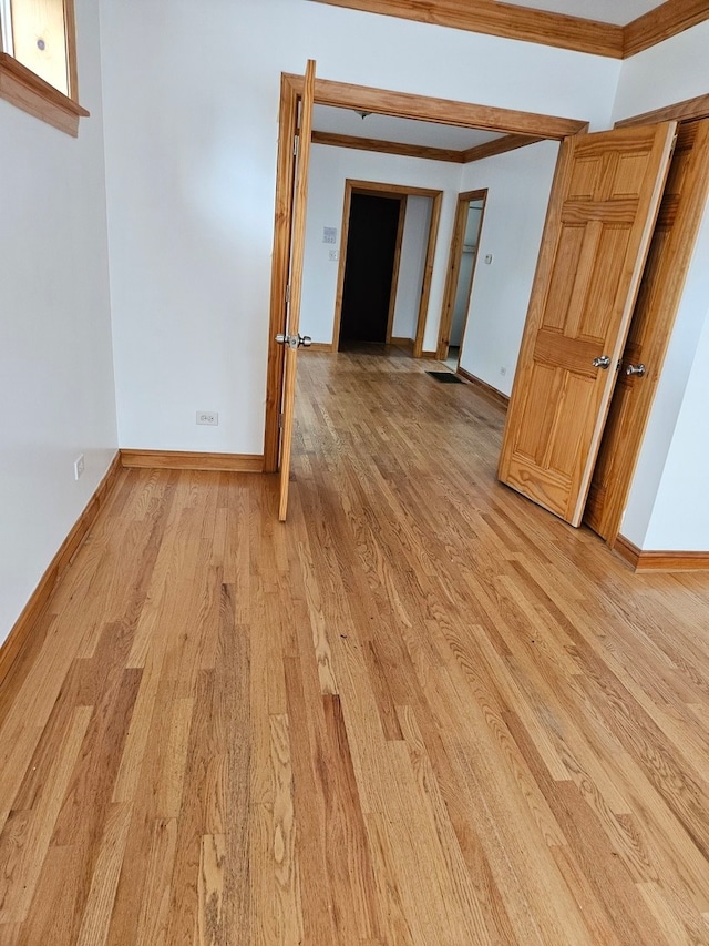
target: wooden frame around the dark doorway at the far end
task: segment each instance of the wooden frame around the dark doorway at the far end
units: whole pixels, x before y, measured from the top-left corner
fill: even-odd
[[[435,256],[435,244],[438,241],[439,224],[441,221],[441,206],[443,203],[443,191],[434,191],[430,187],[409,187],[405,184],[381,184],[374,181],[345,181],[345,201],[342,205],[342,238],[340,242],[340,264],[337,274],[337,292],[335,296],[335,318],[332,323],[332,348],[337,352],[340,342],[340,323],[342,318],[342,294],[345,291],[345,269],[347,267],[347,245],[350,228],[350,208],[352,194],[378,194],[381,197],[397,197],[402,202],[402,212],[399,216],[399,233],[397,235],[397,255],[394,258],[394,276],[391,285],[391,297],[389,299],[389,318],[387,323],[387,342],[391,342],[393,329],[394,307],[397,303],[397,285],[399,281],[399,267],[401,264],[401,245],[403,242],[403,225],[407,197],[431,197],[431,221],[429,223],[429,237],[427,243],[425,263],[423,267],[423,284],[421,286],[421,299],[419,302],[419,314],[417,318],[417,334],[413,343],[413,357],[420,358],[423,350],[423,333],[425,330],[425,317],[429,309],[431,295],[431,276],[433,274],[433,260]]]

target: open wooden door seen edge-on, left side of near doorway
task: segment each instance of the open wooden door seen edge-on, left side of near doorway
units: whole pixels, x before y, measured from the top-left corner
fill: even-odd
[[[286,334],[277,335],[276,340],[286,347],[284,370],[282,421],[280,440],[280,499],[278,518],[286,521],[288,513],[288,484],[290,480],[290,451],[292,446],[292,419],[296,407],[296,372],[298,368],[298,348],[309,345],[310,338],[302,338],[300,328],[300,296],[302,291],[302,258],[306,240],[306,210],[308,201],[308,170],[310,162],[310,139],[312,136],[312,103],[315,99],[315,61],[308,60],[306,79],[300,100],[300,122],[298,129],[298,149],[296,164],[296,190],[292,211],[292,237],[290,243],[290,276],[288,281],[288,315]]]

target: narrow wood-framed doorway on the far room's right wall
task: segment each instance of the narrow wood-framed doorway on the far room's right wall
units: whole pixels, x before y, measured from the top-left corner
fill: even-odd
[[[458,197],[435,353],[436,358],[445,362],[454,372],[460,365],[461,348],[467,325],[486,197],[487,190],[467,191],[459,194]]]

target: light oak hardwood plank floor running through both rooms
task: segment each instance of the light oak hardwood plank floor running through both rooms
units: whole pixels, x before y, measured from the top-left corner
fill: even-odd
[[[0,694],[0,944],[709,943],[709,577],[495,481],[503,416],[300,358],[274,477],[130,470]]]

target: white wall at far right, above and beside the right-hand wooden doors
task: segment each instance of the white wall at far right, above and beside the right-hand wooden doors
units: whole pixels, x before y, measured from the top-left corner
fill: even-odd
[[[625,62],[614,120],[705,94],[708,48],[706,22]],[[621,525],[623,535],[640,549],[709,549],[709,505],[701,474],[709,466],[707,260],[709,212],[695,247]]]

